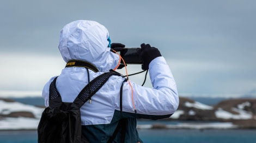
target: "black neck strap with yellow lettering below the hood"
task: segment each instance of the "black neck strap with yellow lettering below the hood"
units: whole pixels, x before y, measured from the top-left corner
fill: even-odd
[[[65,68],[67,67],[84,67],[93,70],[93,72],[95,73],[99,72],[99,69],[97,69],[96,66],[94,66],[94,64],[81,60],[70,60],[66,63]]]

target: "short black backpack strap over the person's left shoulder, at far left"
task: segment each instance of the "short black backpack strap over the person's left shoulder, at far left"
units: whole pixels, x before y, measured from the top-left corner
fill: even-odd
[[[56,88],[56,80],[58,76],[54,78],[51,82],[50,89],[49,89],[49,107],[56,108],[62,104],[62,97],[60,96],[57,88]]]

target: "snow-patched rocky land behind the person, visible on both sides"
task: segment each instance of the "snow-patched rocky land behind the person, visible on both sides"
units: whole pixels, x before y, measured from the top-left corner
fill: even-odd
[[[36,129],[45,107],[0,99],[0,130]],[[144,121],[144,120],[138,120]],[[160,122],[179,121],[179,124]],[[256,129],[256,99],[228,99],[216,105],[205,105],[180,97],[178,110],[168,119],[137,128]]]

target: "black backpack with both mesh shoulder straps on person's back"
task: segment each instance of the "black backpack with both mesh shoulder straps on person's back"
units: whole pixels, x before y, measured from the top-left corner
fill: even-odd
[[[50,85],[49,107],[42,112],[38,125],[38,142],[88,142],[82,135],[80,108],[112,75],[118,74],[108,72],[97,76],[81,90],[71,103],[62,102],[56,88],[56,77]]]

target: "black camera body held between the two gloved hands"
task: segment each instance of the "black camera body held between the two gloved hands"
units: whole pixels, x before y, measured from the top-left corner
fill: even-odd
[[[139,53],[141,53],[141,48],[123,48],[120,51],[125,64],[142,64]],[[121,64],[124,64],[124,62],[121,60]]]

